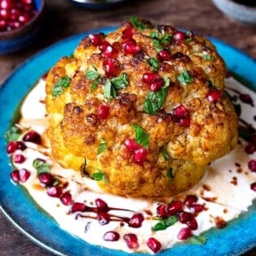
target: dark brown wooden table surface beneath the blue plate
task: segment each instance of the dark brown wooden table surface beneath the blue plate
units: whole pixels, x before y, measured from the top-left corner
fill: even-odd
[[[131,0],[119,7],[102,11],[89,11],[64,0],[46,0],[46,3],[48,27],[41,37],[29,49],[0,56],[0,85],[15,67],[38,50],[76,33],[93,28],[117,26],[124,20],[129,20],[131,15],[152,20],[154,24],[171,24],[217,37],[256,59],[256,27],[228,19],[210,0]],[[6,255],[51,254],[29,241],[0,213],[0,256]],[[256,255],[256,249],[245,255]]]

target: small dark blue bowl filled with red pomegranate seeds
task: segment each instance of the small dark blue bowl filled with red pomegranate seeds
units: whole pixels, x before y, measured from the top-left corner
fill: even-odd
[[[0,0],[0,54],[29,46],[40,32],[45,0]]]

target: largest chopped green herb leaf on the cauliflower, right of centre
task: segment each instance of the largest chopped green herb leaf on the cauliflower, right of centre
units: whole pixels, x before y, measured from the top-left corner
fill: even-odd
[[[144,110],[147,114],[156,115],[157,111],[163,106],[167,97],[168,88],[158,89],[157,92],[148,93],[145,98]]]

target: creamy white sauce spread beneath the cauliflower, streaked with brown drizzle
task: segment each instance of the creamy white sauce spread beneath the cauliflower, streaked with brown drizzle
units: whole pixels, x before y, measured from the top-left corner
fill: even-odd
[[[246,89],[232,77],[226,80],[228,88],[235,88],[241,93],[249,93],[256,102],[255,93]],[[231,95],[232,90],[228,90]],[[44,140],[44,145],[36,145],[32,142],[26,142],[27,149],[17,150],[17,154],[24,154],[26,160],[24,163],[15,163],[17,169],[26,168],[31,172],[28,180],[23,183],[28,189],[28,193],[33,197],[41,208],[46,210],[59,226],[81,239],[93,245],[101,245],[111,249],[121,249],[127,252],[146,252],[152,253],[152,250],[146,245],[149,237],[154,237],[162,244],[162,249],[170,248],[181,240],[177,234],[181,228],[187,227],[185,223],[177,221],[174,225],[165,230],[153,231],[152,228],[158,219],[156,209],[159,202],[171,202],[170,198],[129,198],[119,197],[113,194],[104,193],[98,184],[89,178],[81,178],[79,171],[63,169],[58,163],[50,157],[50,145],[47,138],[43,136],[48,125],[48,119],[45,110],[45,81],[40,80],[35,88],[28,94],[21,107],[22,119],[20,125],[24,128],[32,128],[39,132]],[[255,108],[249,104],[241,103],[242,114],[249,124],[254,124]],[[236,146],[229,154],[219,158],[211,163],[207,168],[205,176],[192,189],[176,196],[177,200],[183,201],[186,195],[193,194],[198,198],[197,204],[204,206],[204,210],[196,215],[198,228],[193,230],[193,235],[210,228],[223,228],[228,221],[237,218],[242,212],[249,209],[256,198],[254,190],[250,189],[250,184],[256,180],[256,174],[249,171],[248,162],[251,158],[256,158],[256,154],[246,154],[246,143]],[[19,152],[20,151],[20,152]],[[15,153],[16,154],[16,153]],[[93,211],[81,214],[70,213],[71,206],[65,206],[59,198],[50,197],[46,193],[46,188],[41,186],[37,171],[33,168],[35,158],[45,159],[50,163],[50,171],[54,176],[59,176],[62,182],[67,183],[65,191],[72,194],[74,202],[84,202],[87,206],[95,207],[95,199],[101,198],[107,205],[118,207],[123,210],[110,210],[111,215],[121,216],[122,219],[131,218],[135,213],[141,213],[144,216],[141,228],[129,227],[122,219],[114,218],[105,225],[101,225],[96,219],[96,213]],[[189,211],[189,207],[184,208]],[[103,236],[106,232],[116,231],[119,233],[119,241],[104,241]],[[124,235],[134,233],[137,235],[139,246],[135,249],[128,248],[124,241]]]

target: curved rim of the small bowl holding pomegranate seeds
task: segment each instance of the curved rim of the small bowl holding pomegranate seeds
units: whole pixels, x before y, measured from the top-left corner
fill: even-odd
[[[20,28],[11,29],[9,31],[1,31],[0,32],[0,41],[1,40],[8,40],[12,37],[16,37],[17,35],[20,35],[20,33],[25,33],[28,31],[28,29],[38,20],[38,18],[41,16],[43,11],[46,7],[46,0],[40,0],[41,1],[41,7],[37,10],[36,14],[33,15],[33,18],[28,21],[28,23],[24,24]]]

